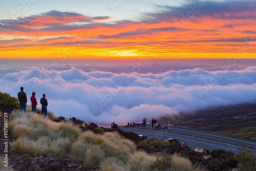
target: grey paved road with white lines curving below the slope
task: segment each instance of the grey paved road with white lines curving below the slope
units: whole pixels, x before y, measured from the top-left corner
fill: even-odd
[[[256,156],[256,150],[253,149],[253,147],[254,148],[256,147],[256,143],[254,143],[254,142],[234,139],[234,138],[221,136],[221,135],[214,135],[214,134],[210,134],[210,133],[206,133],[206,132],[198,132],[198,131],[193,131],[193,130],[180,129],[177,127],[171,127],[171,128],[168,128],[168,130],[163,129],[161,131],[155,131],[155,130],[150,130],[150,129],[138,129],[135,127],[122,127],[121,130],[123,130],[125,132],[131,131],[138,135],[143,134],[148,137],[152,137],[152,138],[156,138],[156,139],[160,139],[160,140],[165,140],[168,138],[175,138],[180,143],[185,142],[187,144],[187,146],[189,146],[191,148],[198,147],[198,148],[202,148],[202,149],[209,149],[210,151],[212,151],[213,149],[224,149],[225,151],[239,153],[242,149],[248,149],[246,147],[249,145],[250,149],[252,150],[252,153]],[[176,133],[170,133],[170,132],[176,132]],[[177,134],[177,133],[179,133],[179,134]],[[180,135],[180,134],[184,134],[184,135]],[[187,134],[187,135],[185,135],[185,134]],[[193,136],[191,136],[191,135],[193,135]],[[219,142],[216,140],[218,140]],[[227,143],[224,141],[226,141]],[[238,144],[233,145],[234,142],[236,142]]]

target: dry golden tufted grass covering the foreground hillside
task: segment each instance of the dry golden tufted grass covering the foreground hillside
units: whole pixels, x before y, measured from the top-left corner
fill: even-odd
[[[15,140],[10,143],[12,151],[31,156],[49,152],[54,157],[65,157],[84,167],[99,170],[158,170],[154,165],[156,156],[137,151],[135,144],[118,133],[97,135],[81,132],[72,122],[54,122],[33,112],[14,111],[9,129]],[[201,171],[188,159],[172,157],[170,170]]]

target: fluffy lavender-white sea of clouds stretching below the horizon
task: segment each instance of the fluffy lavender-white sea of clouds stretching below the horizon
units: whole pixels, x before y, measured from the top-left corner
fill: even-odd
[[[10,65],[0,68],[0,82],[0,91],[14,97],[21,86],[28,99],[35,91],[38,103],[45,93],[56,116],[104,126],[256,101],[256,66],[238,64]]]

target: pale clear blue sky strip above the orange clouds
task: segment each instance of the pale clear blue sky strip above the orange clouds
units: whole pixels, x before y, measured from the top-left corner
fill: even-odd
[[[94,0],[94,1],[82,1],[82,0],[20,0],[9,1],[5,0],[1,2],[1,15],[0,19],[12,18],[12,9],[18,11],[20,6],[25,7],[25,11],[20,13],[20,17],[35,15],[38,13],[44,13],[51,10],[58,11],[74,11],[85,15],[98,16],[98,15],[110,15],[124,19],[127,17],[133,17],[141,12],[155,11],[154,5],[174,5],[178,6],[184,3],[184,1],[154,1],[154,0]],[[14,18],[13,18],[14,19]]]

